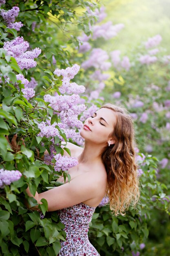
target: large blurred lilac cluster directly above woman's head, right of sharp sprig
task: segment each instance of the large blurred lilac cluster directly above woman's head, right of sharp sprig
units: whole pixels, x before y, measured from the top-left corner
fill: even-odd
[[[82,63],[82,67],[86,70],[89,67],[99,68],[101,70],[108,70],[111,66],[110,62],[106,62],[108,60],[108,54],[106,51],[100,48],[94,48],[88,58],[88,60]]]

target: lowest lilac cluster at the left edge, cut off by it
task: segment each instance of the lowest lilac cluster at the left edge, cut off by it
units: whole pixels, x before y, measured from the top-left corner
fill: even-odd
[[[4,185],[10,185],[12,182],[19,180],[21,176],[22,173],[18,170],[8,171],[0,169],[0,188],[2,189]]]

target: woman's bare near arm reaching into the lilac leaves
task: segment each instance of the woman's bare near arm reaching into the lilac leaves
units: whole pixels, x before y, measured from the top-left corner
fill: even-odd
[[[69,183],[40,194],[36,192],[35,196],[31,194],[29,188],[26,189],[26,193],[35,198],[38,204],[41,204],[42,198],[46,199],[48,211],[56,211],[94,198],[97,196],[99,185],[95,175],[91,174],[89,178],[89,173],[85,173],[75,177]]]

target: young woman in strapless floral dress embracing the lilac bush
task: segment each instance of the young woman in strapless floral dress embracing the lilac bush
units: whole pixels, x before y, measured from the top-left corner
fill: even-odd
[[[87,235],[95,208],[108,195],[110,209],[123,215],[139,198],[134,128],[127,111],[104,105],[86,119],[80,135],[84,148],[67,144],[71,156],[79,161],[69,170],[71,181],[34,196],[38,203],[47,200],[48,211],[59,210],[66,231],[59,256],[99,256]],[[29,188],[26,193],[33,197]]]

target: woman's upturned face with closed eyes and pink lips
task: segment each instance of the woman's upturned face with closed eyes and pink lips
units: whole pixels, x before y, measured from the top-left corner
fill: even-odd
[[[117,121],[116,113],[109,108],[100,108],[92,117],[84,121],[84,127],[80,135],[86,140],[95,144],[108,143],[109,135],[113,133]]]

